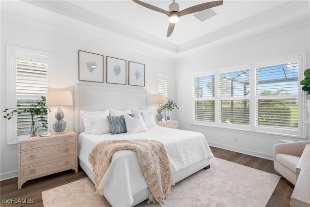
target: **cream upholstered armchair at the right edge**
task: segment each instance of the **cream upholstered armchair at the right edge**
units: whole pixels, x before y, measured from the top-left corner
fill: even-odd
[[[275,170],[290,181],[296,184],[296,165],[300,159],[305,146],[310,141],[279,143],[274,146],[273,165]]]

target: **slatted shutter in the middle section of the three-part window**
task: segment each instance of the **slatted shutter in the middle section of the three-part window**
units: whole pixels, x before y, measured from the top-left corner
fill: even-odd
[[[249,70],[220,73],[219,122],[249,125]]]

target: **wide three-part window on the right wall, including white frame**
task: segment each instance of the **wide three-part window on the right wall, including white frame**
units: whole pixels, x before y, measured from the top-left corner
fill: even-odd
[[[304,56],[193,74],[193,124],[306,137]]]

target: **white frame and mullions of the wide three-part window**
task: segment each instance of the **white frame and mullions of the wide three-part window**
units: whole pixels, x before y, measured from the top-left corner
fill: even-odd
[[[285,128],[275,128],[275,127],[258,127],[256,126],[256,68],[260,66],[273,65],[273,64],[282,64],[298,61],[298,95],[295,95],[298,99],[298,129],[285,129]],[[249,68],[249,90],[250,95],[248,97],[240,96],[241,99],[249,100],[249,126],[232,124],[228,125],[226,123],[219,123],[219,101],[223,99],[231,99],[232,97],[219,97],[219,80],[218,75],[223,72],[230,72],[235,70],[242,70]],[[274,134],[274,135],[283,135],[290,136],[295,138],[306,139],[307,138],[307,114],[304,111],[307,111],[306,104],[306,93],[301,90],[301,85],[299,84],[300,80],[303,80],[303,71],[306,69],[306,51],[297,54],[291,54],[286,56],[281,56],[274,59],[265,59],[260,62],[255,62],[252,64],[246,64],[242,66],[235,67],[227,67],[227,68],[219,68],[207,71],[200,71],[192,73],[191,82],[192,82],[192,117],[191,117],[191,125],[193,126],[201,126],[201,127],[219,127],[219,128],[227,128],[227,129],[237,129],[244,130],[248,132],[254,133],[265,133],[265,134]],[[205,121],[196,121],[194,120],[194,92],[193,92],[193,79],[202,76],[215,75],[215,123],[205,122]],[[293,95],[294,96],[294,95]],[[261,96],[260,96],[261,97]],[[239,97],[233,97],[233,99],[238,99]],[[268,97],[263,97],[268,98]],[[279,96],[280,98],[280,96]]]

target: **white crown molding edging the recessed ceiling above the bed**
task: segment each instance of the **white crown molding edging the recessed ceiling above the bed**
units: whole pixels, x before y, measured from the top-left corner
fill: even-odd
[[[290,16],[292,19],[294,18],[298,19],[298,16],[307,13],[309,19],[309,3],[305,0],[303,1],[292,0],[289,1],[288,3],[282,4],[277,8],[270,9],[266,12],[239,21],[233,25],[209,33],[193,41],[178,46],[168,43],[164,40],[160,40],[146,33],[134,30],[126,25],[117,23],[103,16],[93,14],[87,10],[84,10],[82,8],[79,8],[75,5],[72,5],[62,0],[52,0],[52,1],[22,0],[22,1],[61,14],[63,16],[68,16],[77,19],[84,23],[96,26],[98,28],[102,28],[110,32],[115,32],[120,35],[125,34],[124,36],[126,38],[134,39],[136,41],[140,41],[142,43],[149,44],[157,48],[173,52],[175,54],[180,54],[182,52],[189,51],[194,48],[206,46],[220,39],[225,39],[227,37],[233,36],[241,32],[250,31],[251,29],[262,26],[264,24],[268,24],[273,21],[279,21],[280,19],[284,19],[287,16]],[[287,24],[289,24],[289,22]]]

